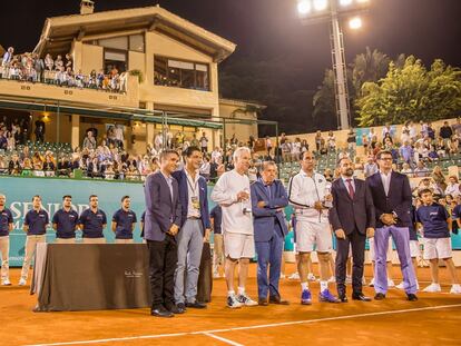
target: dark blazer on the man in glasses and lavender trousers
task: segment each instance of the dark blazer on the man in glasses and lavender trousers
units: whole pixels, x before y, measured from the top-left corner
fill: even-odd
[[[380,172],[367,177],[366,185],[373,197],[376,227],[384,226],[380,220],[381,215],[392,212],[395,212],[398,216],[396,227],[410,227],[412,195],[410,181],[405,175],[392,171],[389,196],[385,196]]]

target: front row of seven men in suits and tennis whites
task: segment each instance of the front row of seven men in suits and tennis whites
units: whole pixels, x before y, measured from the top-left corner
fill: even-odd
[[[370,301],[362,291],[366,238],[374,237],[375,299],[388,290],[386,250],[393,238],[409,300],[416,300],[416,281],[410,256],[409,226],[411,190],[408,177],[392,170],[392,155],[377,155],[380,171],[366,181],[353,177],[349,158],[337,165],[341,178],[333,184],[314,170],[315,158],[306,151],[302,169],[292,178],[288,191],[276,179],[276,165],[264,162],[261,178],[249,184],[248,148],[234,152],[235,168],[223,174],[210,198],[222,208],[227,306],[283,304],[278,289],[284,237],[287,234],[284,208],[291,204],[296,217],[295,238],[301,277],[301,303],[312,304],[307,263],[316,250],[321,271],[320,300],[346,303],[345,267],[352,248],[352,299]],[[190,308],[205,308],[197,301],[197,279],[203,244],[208,241],[210,223],[207,186],[198,175],[202,150],[185,151],[185,168],[176,171],[178,154],[160,155],[160,170],[145,185],[145,238],[150,253],[151,315],[173,317]],[[377,228],[376,228],[377,227]],[[376,228],[376,230],[375,230]],[[336,238],[337,297],[328,289],[328,261]],[[257,301],[245,290],[248,264],[257,254]],[[238,286],[235,290],[235,269]]]

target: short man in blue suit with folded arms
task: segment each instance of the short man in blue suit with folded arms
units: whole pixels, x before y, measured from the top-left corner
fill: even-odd
[[[267,294],[269,304],[288,304],[278,291],[283,240],[288,233],[283,209],[288,205],[288,198],[282,182],[275,180],[276,174],[275,162],[266,161],[263,164],[262,178],[252,185],[258,304],[262,306],[267,305]]]

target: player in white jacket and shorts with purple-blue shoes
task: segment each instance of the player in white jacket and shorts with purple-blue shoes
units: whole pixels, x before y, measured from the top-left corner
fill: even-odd
[[[307,263],[316,247],[320,274],[320,300],[340,303],[328,290],[330,253],[333,249],[332,234],[326,205],[332,202],[330,182],[314,171],[315,158],[305,151],[301,160],[301,171],[288,185],[288,200],[296,214],[296,249],[298,251],[297,270],[301,277],[301,304],[311,305],[312,295],[307,281]]]

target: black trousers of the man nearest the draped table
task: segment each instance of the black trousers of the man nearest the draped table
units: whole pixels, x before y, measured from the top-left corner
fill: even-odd
[[[175,237],[166,235],[163,241],[147,240],[153,309],[175,304],[175,269],[178,263]]]

